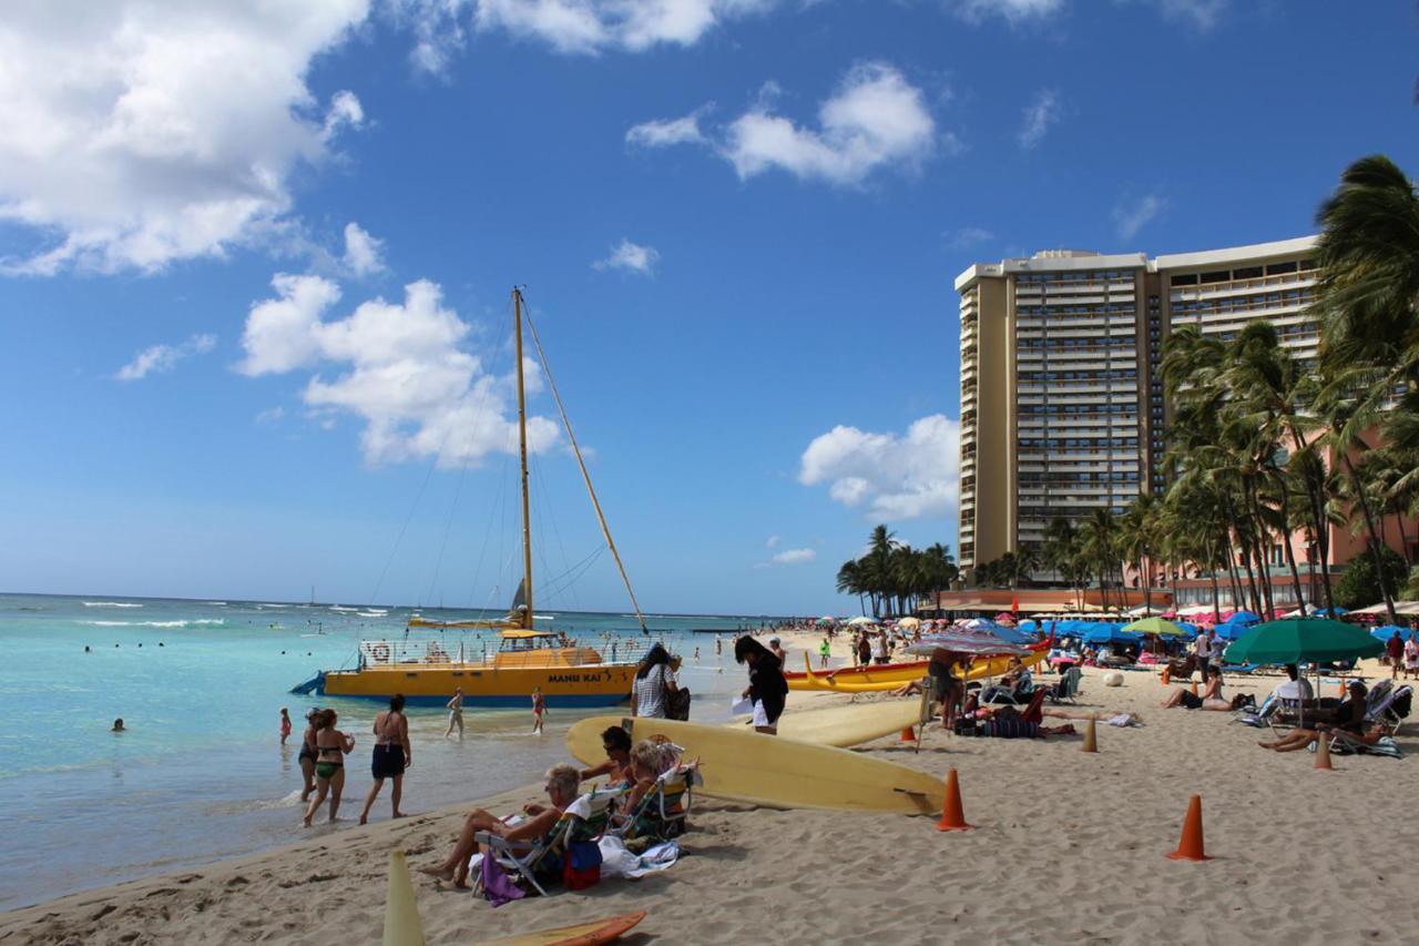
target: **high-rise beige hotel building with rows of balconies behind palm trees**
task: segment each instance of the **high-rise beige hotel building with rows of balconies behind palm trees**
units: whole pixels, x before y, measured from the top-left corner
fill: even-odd
[[[959,562],[1044,540],[1050,520],[1162,491],[1162,345],[1271,321],[1315,358],[1314,237],[1148,259],[1047,250],[979,263],[961,294]]]

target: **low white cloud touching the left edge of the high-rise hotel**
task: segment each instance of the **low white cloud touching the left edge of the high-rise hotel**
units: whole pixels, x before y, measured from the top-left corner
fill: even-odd
[[[803,450],[799,482],[829,483],[833,500],[866,504],[871,520],[946,516],[959,491],[959,440],[961,425],[939,413],[914,422],[902,436],[839,425]]]

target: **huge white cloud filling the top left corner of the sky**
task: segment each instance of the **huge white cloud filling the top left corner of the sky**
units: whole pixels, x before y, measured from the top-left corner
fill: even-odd
[[[368,0],[51,0],[0,18],[0,222],[10,274],[160,270],[280,237],[288,179],[359,99],[307,75]]]

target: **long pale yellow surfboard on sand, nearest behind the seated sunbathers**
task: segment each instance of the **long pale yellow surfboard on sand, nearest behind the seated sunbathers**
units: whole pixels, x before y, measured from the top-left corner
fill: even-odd
[[[586,764],[603,761],[602,730],[622,724],[631,739],[664,736],[700,760],[712,798],[771,808],[824,808],[939,814],[945,787],[939,777],[833,746],[813,746],[782,736],[738,732],[668,719],[593,716],[566,734],[566,747]]]

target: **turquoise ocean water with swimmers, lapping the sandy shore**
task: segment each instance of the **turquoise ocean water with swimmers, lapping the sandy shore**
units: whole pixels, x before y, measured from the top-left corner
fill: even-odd
[[[318,669],[349,666],[362,638],[402,639],[409,609],[244,601],[0,595],[0,909],[210,862],[338,831],[359,817],[369,734],[382,706],[289,695]],[[424,608],[424,616],[473,616]],[[556,628],[604,648],[643,641],[626,615],[548,612]],[[694,719],[722,719],[744,672],[714,635],[762,616],[647,615],[653,634],[685,656],[681,682]],[[419,632],[416,632],[419,634]],[[423,632],[429,634],[429,632]],[[434,632],[437,634],[437,632]],[[444,632],[478,652],[488,632]],[[624,645],[623,645],[624,646]],[[88,651],[85,651],[88,648]],[[694,660],[700,648],[701,659]],[[725,648],[728,651],[728,648]],[[299,827],[299,734],[309,706],[341,713],[355,734],[339,825]],[[280,746],[280,709],[292,734]],[[414,764],[403,807],[426,811],[534,781],[566,761],[559,710],[543,737],[528,710],[464,712],[465,736],[446,740],[447,714],[409,712]],[[115,717],[128,732],[111,733]],[[322,811],[319,821],[325,817]],[[372,812],[389,817],[389,785]],[[23,839],[23,842],[20,841]]]

